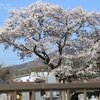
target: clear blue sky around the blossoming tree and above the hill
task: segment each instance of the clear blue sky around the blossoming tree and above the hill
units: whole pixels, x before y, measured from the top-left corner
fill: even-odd
[[[21,7],[27,7],[32,2],[37,0],[0,0],[0,26],[4,26],[4,20],[8,17],[9,9],[20,9]],[[49,2],[50,4],[57,4],[64,9],[74,9],[78,6],[87,9],[87,11],[97,10],[100,12],[100,0],[41,0],[42,2]],[[34,59],[20,60],[17,53],[12,52],[12,48],[3,51],[3,45],[0,45],[0,63],[4,63],[6,66],[16,65],[25,62],[32,61]]]

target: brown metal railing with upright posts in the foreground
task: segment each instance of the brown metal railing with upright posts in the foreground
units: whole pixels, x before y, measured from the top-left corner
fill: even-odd
[[[50,99],[53,100],[53,91],[66,91],[67,97],[63,100],[70,100],[72,91],[83,92],[84,100],[87,100],[87,93],[100,91],[100,83],[66,83],[66,84],[16,84],[16,85],[0,85],[0,93],[14,93],[14,100],[18,92],[31,92],[31,100],[35,100],[36,91],[50,91]]]

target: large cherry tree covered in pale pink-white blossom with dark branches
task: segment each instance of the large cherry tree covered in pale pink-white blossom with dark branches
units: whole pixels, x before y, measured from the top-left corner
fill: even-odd
[[[100,51],[98,36],[99,12],[87,12],[81,7],[64,10],[40,1],[10,10],[5,26],[0,28],[0,43],[5,50],[12,46],[21,59],[35,54],[52,70],[66,72],[96,66]]]

